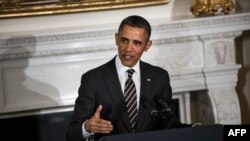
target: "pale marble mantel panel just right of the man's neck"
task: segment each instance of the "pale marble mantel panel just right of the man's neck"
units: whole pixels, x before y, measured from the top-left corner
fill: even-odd
[[[146,61],[168,71],[203,66],[203,47],[199,41],[155,45],[146,55]]]

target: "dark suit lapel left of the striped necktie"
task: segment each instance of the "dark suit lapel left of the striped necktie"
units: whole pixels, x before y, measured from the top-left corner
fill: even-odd
[[[123,92],[121,89],[121,85],[119,82],[117,70],[115,67],[115,59],[112,59],[108,64],[106,69],[104,70],[105,72],[105,79],[104,82],[107,86],[107,89],[109,91],[110,96],[112,97],[113,102],[115,103],[117,107],[117,113],[119,115],[119,118],[122,119],[122,122],[126,126],[128,131],[131,131],[130,123],[129,123],[129,118],[125,106],[125,100],[123,96]]]

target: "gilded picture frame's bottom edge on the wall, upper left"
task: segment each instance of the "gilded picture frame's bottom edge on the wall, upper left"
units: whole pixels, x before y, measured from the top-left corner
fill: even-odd
[[[0,18],[111,10],[168,2],[169,0],[0,0]]]

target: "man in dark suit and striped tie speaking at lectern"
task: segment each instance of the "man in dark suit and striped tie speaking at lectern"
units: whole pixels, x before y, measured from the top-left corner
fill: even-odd
[[[140,60],[143,52],[151,47],[150,35],[150,24],[140,16],[129,16],[121,22],[115,34],[118,55],[82,75],[79,96],[67,129],[69,141],[80,141],[91,135],[98,140],[105,135],[164,128],[140,104],[142,96],[152,100],[155,95],[161,95],[172,100],[168,72]],[[132,74],[127,72],[130,69],[133,69]],[[129,87],[133,90],[126,92],[129,76],[133,81]],[[135,93],[135,101],[126,101],[126,93]],[[134,110],[131,113],[129,109]]]

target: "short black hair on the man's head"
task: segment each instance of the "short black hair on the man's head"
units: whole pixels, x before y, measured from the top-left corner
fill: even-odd
[[[144,19],[141,16],[137,16],[137,15],[132,15],[132,16],[128,16],[127,18],[123,19],[119,29],[118,29],[118,34],[121,32],[122,28],[125,26],[131,26],[131,27],[136,27],[136,28],[143,28],[146,33],[146,39],[149,40],[150,36],[151,36],[151,26],[149,24],[149,22]]]

